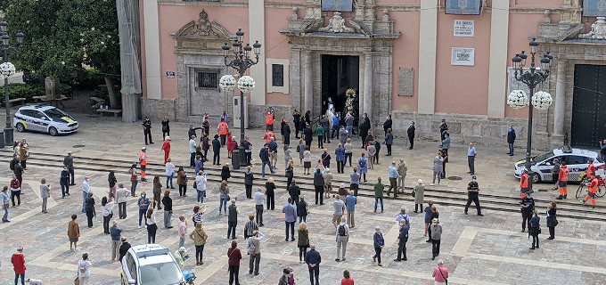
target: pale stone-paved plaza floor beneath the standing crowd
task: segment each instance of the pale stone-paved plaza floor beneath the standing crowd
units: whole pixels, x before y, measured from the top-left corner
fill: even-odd
[[[87,252],[93,263],[91,284],[119,284],[119,262],[111,262],[110,236],[102,233],[102,216],[100,199],[109,190],[106,171],[78,170],[82,163],[77,161],[76,186],[70,189],[71,195],[61,199],[59,177],[61,168],[37,166],[37,153],[64,155],[73,151],[76,159],[100,158],[118,159],[122,164],[116,164],[119,183],[130,183],[127,174],[128,167],[135,162],[143,143],[143,130],[138,123],[123,124],[114,118],[99,118],[86,114],[75,114],[80,123],[77,134],[52,137],[47,134],[15,133],[15,139],[25,137],[30,145],[28,173],[23,175],[21,196],[22,202],[18,208],[10,208],[10,224],[0,224],[0,284],[12,284],[14,273],[10,258],[15,248],[22,246],[26,259],[26,278],[44,281],[44,284],[73,284],[77,274],[77,262],[82,253]],[[161,163],[163,152],[160,151],[161,133],[160,122],[152,122],[152,137],[154,144],[148,146],[150,163]],[[177,167],[189,165],[187,147],[187,128],[189,123],[171,122],[172,151],[170,157]],[[239,131],[233,130],[236,136]],[[200,133],[199,133],[200,134]],[[258,148],[262,145],[263,130],[247,130],[253,143],[253,160],[258,160]],[[294,138],[291,138],[291,142]],[[74,147],[82,146],[83,147]],[[324,144],[331,153],[337,142]],[[356,138],[354,145],[359,149],[360,142]],[[316,146],[316,142],[312,143]],[[498,193],[517,196],[519,181],[513,177],[512,163],[522,159],[523,152],[517,149],[517,155],[510,157],[505,154],[506,147],[494,145],[477,145],[479,152],[476,159],[476,175],[478,175],[480,201],[482,193]],[[403,140],[397,140],[392,157],[385,157],[387,150],[381,148],[381,164],[370,170],[368,182],[374,183],[377,176],[388,181],[389,163],[391,160],[404,158],[408,165],[406,186],[411,187],[417,179],[423,179],[426,185],[431,183],[432,159],[438,150],[438,142],[415,143],[415,149],[409,151]],[[4,151],[9,151],[5,149]],[[446,166],[448,176],[460,176],[462,180],[445,180],[440,188],[464,191],[470,181],[467,175],[467,144],[453,144],[450,153],[450,163]],[[0,151],[3,152],[3,151]],[[320,152],[313,148],[314,158]],[[356,153],[357,152],[357,153]],[[354,159],[359,157],[356,151]],[[293,151],[293,157],[297,155]],[[222,149],[222,162],[227,162],[226,150]],[[283,153],[279,152],[276,176],[283,177]],[[295,157],[296,158],[296,157]],[[10,182],[11,170],[8,167],[0,169],[0,182],[7,185]],[[334,165],[334,159],[333,159]],[[207,167],[210,163],[207,163]],[[311,176],[301,177],[302,168],[295,163],[295,179],[311,179]],[[260,167],[253,167],[257,178],[260,179]],[[336,167],[334,167],[336,168]],[[192,170],[188,170],[192,172]],[[348,179],[351,167],[346,167],[345,174],[336,174],[335,179]],[[98,216],[94,227],[86,227],[86,216],[80,213],[82,206],[81,183],[85,175],[91,177],[91,187],[97,200]],[[346,176],[347,175],[347,176]],[[46,178],[52,185],[49,199],[49,214],[40,213],[41,199],[39,198],[39,181]],[[150,182],[139,183],[137,192],[147,191],[151,196]],[[164,179],[160,179],[164,181]],[[237,183],[235,183],[237,182]],[[248,221],[249,213],[254,213],[254,202],[246,199],[243,181],[231,181],[230,196],[237,198],[240,216],[237,226],[239,248],[245,248],[243,226]],[[333,184],[333,186],[335,186]],[[336,185],[338,186],[338,185]],[[336,187],[335,187],[336,188]],[[432,187],[428,188],[432,189]],[[538,188],[551,188],[551,185],[541,184]],[[430,190],[428,190],[430,191]],[[208,199],[205,200],[206,214],[202,217],[203,225],[209,234],[209,240],[204,248],[204,265],[194,265],[195,261],[185,262],[185,269],[196,274],[196,284],[226,284],[227,283],[227,248],[231,240],[226,239],[227,218],[218,215],[218,184],[209,183]],[[172,191],[174,203],[173,224],[176,217],[185,215],[189,221],[188,232],[193,229],[191,223],[192,208],[195,205],[194,190],[188,187],[187,198],[178,198]],[[410,199],[386,199],[385,211],[374,214],[374,201],[361,197],[356,207],[356,227],[351,230],[348,242],[347,260],[334,261],[336,257],[335,228],[332,226],[332,207],[330,205],[315,206],[313,192],[303,191],[307,202],[310,202],[311,214],[307,216],[309,238],[315,243],[316,249],[322,255],[320,265],[320,282],[322,284],[338,284],[343,270],[349,270],[356,284],[433,284],[431,273],[436,261],[431,260],[431,246],[423,237],[423,214],[414,214],[414,203]],[[408,194],[406,194],[408,195]],[[553,191],[536,193],[540,199],[553,199]],[[261,241],[260,274],[248,274],[248,257],[242,249],[242,264],[240,268],[241,284],[276,284],[282,275],[283,267],[291,266],[297,284],[307,284],[309,276],[307,265],[299,263],[297,241],[284,241],[284,222],[282,206],[286,203],[286,191],[283,187],[276,191],[276,208],[264,215],[266,226],[261,232],[266,238]],[[570,201],[572,202],[572,201]],[[602,207],[603,199],[598,199],[598,208]],[[397,254],[397,224],[394,221],[399,208],[405,206],[411,216],[410,238],[407,242],[406,262],[393,262]],[[444,228],[440,256],[450,272],[449,284],[606,284],[606,223],[587,220],[559,218],[556,227],[556,239],[545,240],[548,236],[545,226],[545,216],[541,218],[543,234],[540,237],[540,248],[529,250],[531,240],[528,233],[520,232],[520,213],[517,211],[487,210],[485,216],[463,214],[463,208],[436,205],[440,213],[440,224]],[[538,208],[545,213],[546,208]],[[117,208],[114,210],[117,213]],[[122,236],[127,237],[132,245],[146,241],[145,229],[137,228],[136,198],[129,198],[127,218],[118,220],[124,229]],[[474,213],[471,211],[470,214]],[[81,252],[71,252],[67,239],[67,224],[71,214],[78,214],[81,237],[78,247]],[[114,215],[117,217],[118,215]],[[161,226],[162,215],[158,215],[159,231],[157,242],[175,251],[178,245],[176,227],[165,229]],[[297,224],[298,225],[298,224]],[[375,226],[381,226],[385,236],[383,249],[383,267],[373,264],[373,232]],[[192,240],[185,241],[185,248],[194,256]]]

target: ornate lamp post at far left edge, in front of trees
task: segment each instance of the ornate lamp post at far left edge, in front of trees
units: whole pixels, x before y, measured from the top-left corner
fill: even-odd
[[[17,32],[17,47],[12,47],[9,45],[8,32],[6,28],[8,27],[8,23],[3,20],[0,22],[0,49],[2,49],[2,59],[3,63],[0,64],[0,75],[4,77],[4,107],[6,109],[6,126],[4,127],[4,136],[0,138],[0,146],[4,147],[6,145],[12,145],[12,122],[11,122],[11,103],[9,102],[9,93],[8,93],[8,77],[12,77],[15,74],[15,67],[11,62],[8,61],[9,56],[14,53],[19,53],[21,46],[23,45],[23,33],[21,31]]]

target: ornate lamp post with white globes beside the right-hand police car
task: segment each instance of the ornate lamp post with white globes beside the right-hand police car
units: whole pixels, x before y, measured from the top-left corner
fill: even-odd
[[[515,79],[524,83],[528,86],[528,90],[530,94],[535,92],[535,88],[537,85],[543,84],[547,77],[549,77],[551,61],[553,60],[553,56],[549,54],[549,52],[545,53],[543,58],[540,61],[540,68],[535,66],[535,56],[536,56],[536,47],[538,43],[535,38],[533,38],[530,43],[530,68],[528,70],[524,70],[524,66],[526,65],[526,59],[528,55],[522,51],[515,55],[512,58],[513,69]],[[531,102],[529,102],[530,98],[523,90],[513,90],[511,94],[507,97],[507,104],[510,105],[513,109],[524,108],[528,105],[528,138],[526,142],[526,163],[524,167],[528,171],[528,191],[532,191],[532,183],[536,180],[536,175],[533,173],[530,163],[530,153],[532,151],[532,116],[533,116],[533,107],[537,110],[545,110],[549,108],[552,104],[552,95],[548,94],[544,91],[538,91],[532,95]]]

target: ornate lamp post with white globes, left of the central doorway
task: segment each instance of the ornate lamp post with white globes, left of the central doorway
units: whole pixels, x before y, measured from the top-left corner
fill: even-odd
[[[258,55],[261,53],[261,44],[258,41],[255,41],[255,44],[250,46],[250,44],[243,45],[242,37],[244,36],[244,32],[242,32],[242,28],[238,28],[238,31],[235,33],[236,39],[233,41],[232,46],[229,46],[227,43],[222,46],[225,66],[235,69],[240,75],[238,79],[238,89],[240,89],[240,146],[238,146],[238,150],[240,151],[240,165],[247,165],[246,161],[246,152],[244,149],[244,93],[250,93],[252,89],[255,88],[255,80],[252,77],[244,76],[244,72],[246,69],[249,69],[251,66],[258,63]],[[230,53],[230,50],[232,51]],[[255,53],[255,58],[251,58],[250,52]],[[232,75],[225,75],[221,77],[219,81],[219,85],[224,91],[233,91],[235,88],[235,78]]]

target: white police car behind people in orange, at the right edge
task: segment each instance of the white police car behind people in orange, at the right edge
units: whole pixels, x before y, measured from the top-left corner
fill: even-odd
[[[604,175],[604,162],[597,152],[562,147],[561,149],[547,151],[530,159],[530,168],[534,172],[531,177],[532,183],[553,181],[553,175],[558,175],[552,174],[553,159],[566,162],[566,166],[569,167],[570,170],[569,182],[580,181],[581,177],[586,175],[589,159],[594,159],[594,166],[596,168],[595,174],[600,176]],[[526,167],[524,167],[525,163],[526,159],[521,159],[515,163],[514,175],[516,177],[521,177],[522,171],[526,169]]]

